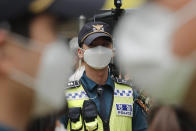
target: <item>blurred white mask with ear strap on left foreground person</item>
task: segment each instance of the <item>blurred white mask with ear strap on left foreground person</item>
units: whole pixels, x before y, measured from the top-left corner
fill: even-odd
[[[61,40],[45,47],[36,78],[13,69],[10,78],[35,91],[33,115],[40,116],[62,109],[64,88],[71,71],[72,58]]]

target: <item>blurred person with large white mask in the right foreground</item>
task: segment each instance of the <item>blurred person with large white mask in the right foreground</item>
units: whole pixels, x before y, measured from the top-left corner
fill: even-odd
[[[152,0],[124,16],[116,36],[125,70],[163,105],[149,130],[195,130],[196,1]]]

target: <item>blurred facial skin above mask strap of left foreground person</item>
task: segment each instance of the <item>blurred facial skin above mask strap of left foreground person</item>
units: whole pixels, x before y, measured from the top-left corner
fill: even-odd
[[[53,22],[53,18],[47,15],[34,18],[29,26],[30,38],[0,30],[1,78],[10,80],[10,74],[15,70],[32,78],[36,77],[44,47],[56,38]],[[12,82],[14,86],[24,86],[21,83]]]

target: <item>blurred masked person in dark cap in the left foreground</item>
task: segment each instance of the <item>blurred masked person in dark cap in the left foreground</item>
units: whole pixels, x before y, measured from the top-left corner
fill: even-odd
[[[64,107],[62,91],[72,62],[56,31],[58,20],[88,14],[102,4],[103,0],[0,1],[1,131],[25,130],[32,118]]]

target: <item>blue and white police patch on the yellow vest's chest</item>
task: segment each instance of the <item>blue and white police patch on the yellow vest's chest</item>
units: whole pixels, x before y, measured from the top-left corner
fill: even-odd
[[[133,117],[133,105],[131,104],[116,104],[116,113],[120,116]]]

